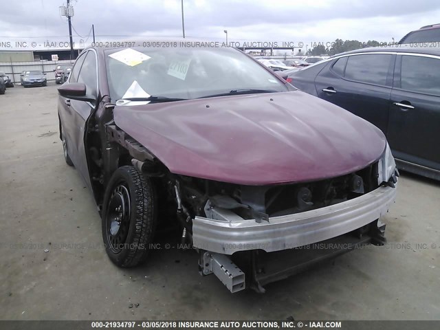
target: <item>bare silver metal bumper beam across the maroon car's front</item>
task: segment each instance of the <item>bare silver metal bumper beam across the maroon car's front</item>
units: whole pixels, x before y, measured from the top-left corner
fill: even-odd
[[[195,217],[192,239],[195,248],[233,254],[246,250],[274,252],[318,243],[367,225],[388,212],[396,189],[380,186],[360,197],[324,208],[309,210],[257,223],[231,210],[214,208],[212,218]],[[210,203],[207,203],[210,206]]]

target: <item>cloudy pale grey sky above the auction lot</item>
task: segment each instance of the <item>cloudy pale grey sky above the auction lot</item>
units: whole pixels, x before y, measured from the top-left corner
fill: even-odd
[[[68,42],[67,19],[58,9],[65,4],[8,0],[0,11],[0,50],[41,50]],[[72,0],[72,5],[72,34],[81,47],[93,41],[91,24],[96,41],[102,42],[182,36],[181,0]],[[184,0],[184,21],[188,39],[223,42],[227,30],[228,41],[235,43],[276,41],[311,47],[335,39],[397,42],[411,30],[440,23],[440,1]]]

